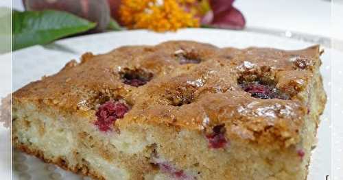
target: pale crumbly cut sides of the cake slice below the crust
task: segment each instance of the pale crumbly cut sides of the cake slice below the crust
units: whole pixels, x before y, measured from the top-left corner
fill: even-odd
[[[279,149],[206,135],[169,123],[118,123],[119,133],[98,131],[89,112],[64,112],[44,101],[16,99],[14,146],[45,162],[96,179],[306,179],[311,149],[316,144],[319,116],[326,101],[317,64],[305,90],[308,103],[300,144]],[[213,131],[215,131],[213,129]],[[222,133],[221,130],[218,132]],[[218,133],[218,134],[220,134]],[[209,142],[229,148],[213,149]]]

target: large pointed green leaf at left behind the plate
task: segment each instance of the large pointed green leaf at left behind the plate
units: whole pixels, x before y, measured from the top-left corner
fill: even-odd
[[[12,15],[13,50],[47,44],[59,38],[88,31],[96,26],[83,18],[54,10],[14,11]]]

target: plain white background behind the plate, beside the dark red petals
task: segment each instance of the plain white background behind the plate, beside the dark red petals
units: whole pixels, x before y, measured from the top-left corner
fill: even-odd
[[[342,27],[338,28],[338,25],[342,26],[338,22],[342,21],[343,17],[343,0],[333,0],[333,4],[331,7],[331,1],[327,0],[234,2],[235,7],[244,14],[248,28],[281,29],[327,37],[332,33],[334,38],[343,40],[343,33],[340,31]],[[21,0],[14,0],[13,7],[16,10],[24,10]],[[331,14],[331,10],[334,14]],[[331,15],[337,19],[331,19]],[[335,28],[332,29],[331,26]]]

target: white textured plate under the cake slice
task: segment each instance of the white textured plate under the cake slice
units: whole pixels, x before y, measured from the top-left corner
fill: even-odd
[[[106,53],[123,45],[158,44],[165,40],[196,40],[208,42],[218,47],[249,46],[274,47],[278,49],[303,49],[311,44],[287,38],[268,36],[245,31],[220,29],[183,29],[177,33],[156,34],[151,31],[120,31],[91,36],[81,36],[60,40],[48,46],[35,46],[13,53],[13,88],[17,90],[30,81],[43,75],[57,73],[69,60],[76,59],[86,51]],[[324,47],[321,72],[324,88],[329,97],[327,107],[321,116],[318,129],[318,146],[313,151],[309,180],[323,180],[331,175],[331,49]],[[341,64],[342,67],[342,64]],[[1,162],[0,162],[1,164]],[[34,157],[14,153],[14,179],[31,177],[32,179],[80,179],[71,172],[52,168]]]

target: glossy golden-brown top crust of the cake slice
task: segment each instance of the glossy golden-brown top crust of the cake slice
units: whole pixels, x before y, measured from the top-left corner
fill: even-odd
[[[180,64],[179,55],[199,60]],[[224,124],[229,139],[282,148],[300,140],[307,114],[301,93],[320,66],[319,47],[298,51],[218,48],[191,41],[121,47],[103,55],[86,53],[50,77],[14,93],[14,101],[49,105],[96,120],[101,99],[126,101],[131,110],[116,126],[167,124],[207,131]],[[123,83],[125,72],[152,75],[144,86]],[[267,79],[290,97],[257,99],[239,79]],[[42,103],[43,102],[43,103]],[[323,101],[324,102],[324,101]]]

